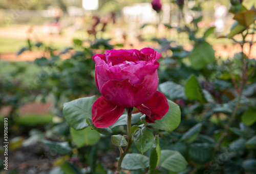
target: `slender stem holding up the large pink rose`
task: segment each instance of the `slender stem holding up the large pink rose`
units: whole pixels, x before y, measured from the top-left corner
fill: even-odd
[[[121,170],[121,164],[123,161],[123,158],[125,157],[125,155],[127,154],[127,152],[129,151],[132,143],[133,143],[133,139],[132,139],[132,111],[133,111],[133,107],[126,107],[125,108],[126,113],[127,113],[127,136],[128,136],[128,145],[126,146],[125,150],[123,151],[123,153],[120,151],[120,158],[118,161],[118,165],[117,165],[117,169],[115,174],[119,174],[120,170]]]

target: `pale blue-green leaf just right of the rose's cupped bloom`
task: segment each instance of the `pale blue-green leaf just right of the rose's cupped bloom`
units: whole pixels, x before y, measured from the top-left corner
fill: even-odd
[[[160,91],[171,100],[178,98],[186,99],[184,86],[172,81],[166,81],[159,84]]]

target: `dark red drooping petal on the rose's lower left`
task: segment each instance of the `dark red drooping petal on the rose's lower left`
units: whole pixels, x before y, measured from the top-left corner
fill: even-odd
[[[122,115],[124,109],[124,107],[116,106],[104,97],[100,97],[93,103],[93,124],[98,128],[109,127]]]

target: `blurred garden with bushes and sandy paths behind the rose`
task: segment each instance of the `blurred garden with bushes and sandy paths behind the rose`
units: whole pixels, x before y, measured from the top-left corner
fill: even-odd
[[[156,11],[149,0],[0,1],[1,173],[113,173],[119,151],[110,136],[93,132],[77,143],[63,103],[100,96],[94,54],[145,47],[162,53],[159,91],[181,110],[177,129],[160,130],[161,149],[188,162],[153,173],[256,173],[255,0],[161,4]]]

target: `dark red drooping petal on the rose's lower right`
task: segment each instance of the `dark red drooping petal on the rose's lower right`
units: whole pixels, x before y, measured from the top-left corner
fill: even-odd
[[[161,119],[168,112],[169,104],[166,97],[157,91],[150,100],[136,108],[146,115],[146,122],[155,123],[155,120]]]

